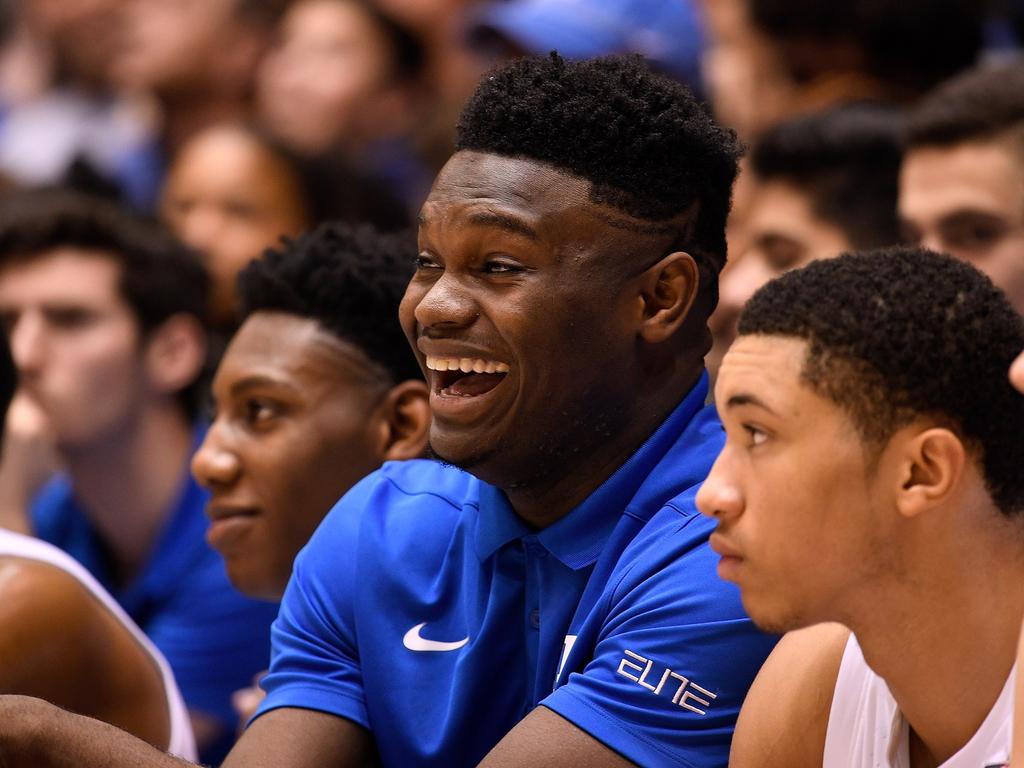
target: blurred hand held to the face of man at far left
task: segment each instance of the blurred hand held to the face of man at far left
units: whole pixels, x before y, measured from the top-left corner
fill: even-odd
[[[46,414],[25,392],[7,412],[0,455],[0,527],[29,534],[29,504],[59,468],[53,432]]]

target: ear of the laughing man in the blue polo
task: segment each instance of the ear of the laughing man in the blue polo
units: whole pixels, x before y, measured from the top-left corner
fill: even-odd
[[[693,257],[670,253],[640,275],[640,336],[656,344],[671,338],[686,321],[700,278]]]

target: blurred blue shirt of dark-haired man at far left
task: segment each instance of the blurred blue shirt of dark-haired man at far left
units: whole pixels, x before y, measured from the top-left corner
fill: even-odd
[[[202,441],[197,434],[196,445]],[[36,536],[82,563],[167,658],[190,710],[219,720],[218,743],[202,755],[219,761],[234,740],[231,693],[252,685],[269,659],[276,603],[245,597],[206,543],[208,494],[183,472],[177,501],[141,572],[117,584],[103,543],[75,501],[66,476],[50,481],[32,505]]]

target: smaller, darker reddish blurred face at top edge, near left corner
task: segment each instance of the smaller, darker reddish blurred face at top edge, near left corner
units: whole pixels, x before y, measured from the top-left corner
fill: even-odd
[[[105,83],[123,46],[130,0],[28,0],[26,22],[54,49],[58,67],[77,82]]]

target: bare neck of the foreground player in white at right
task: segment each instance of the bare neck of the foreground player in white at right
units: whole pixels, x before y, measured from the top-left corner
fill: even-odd
[[[946,535],[921,542],[921,556],[886,587],[885,599],[847,621],[909,724],[914,768],[940,765],[971,739],[1016,657],[1024,615],[1020,525],[984,514],[946,518]]]

